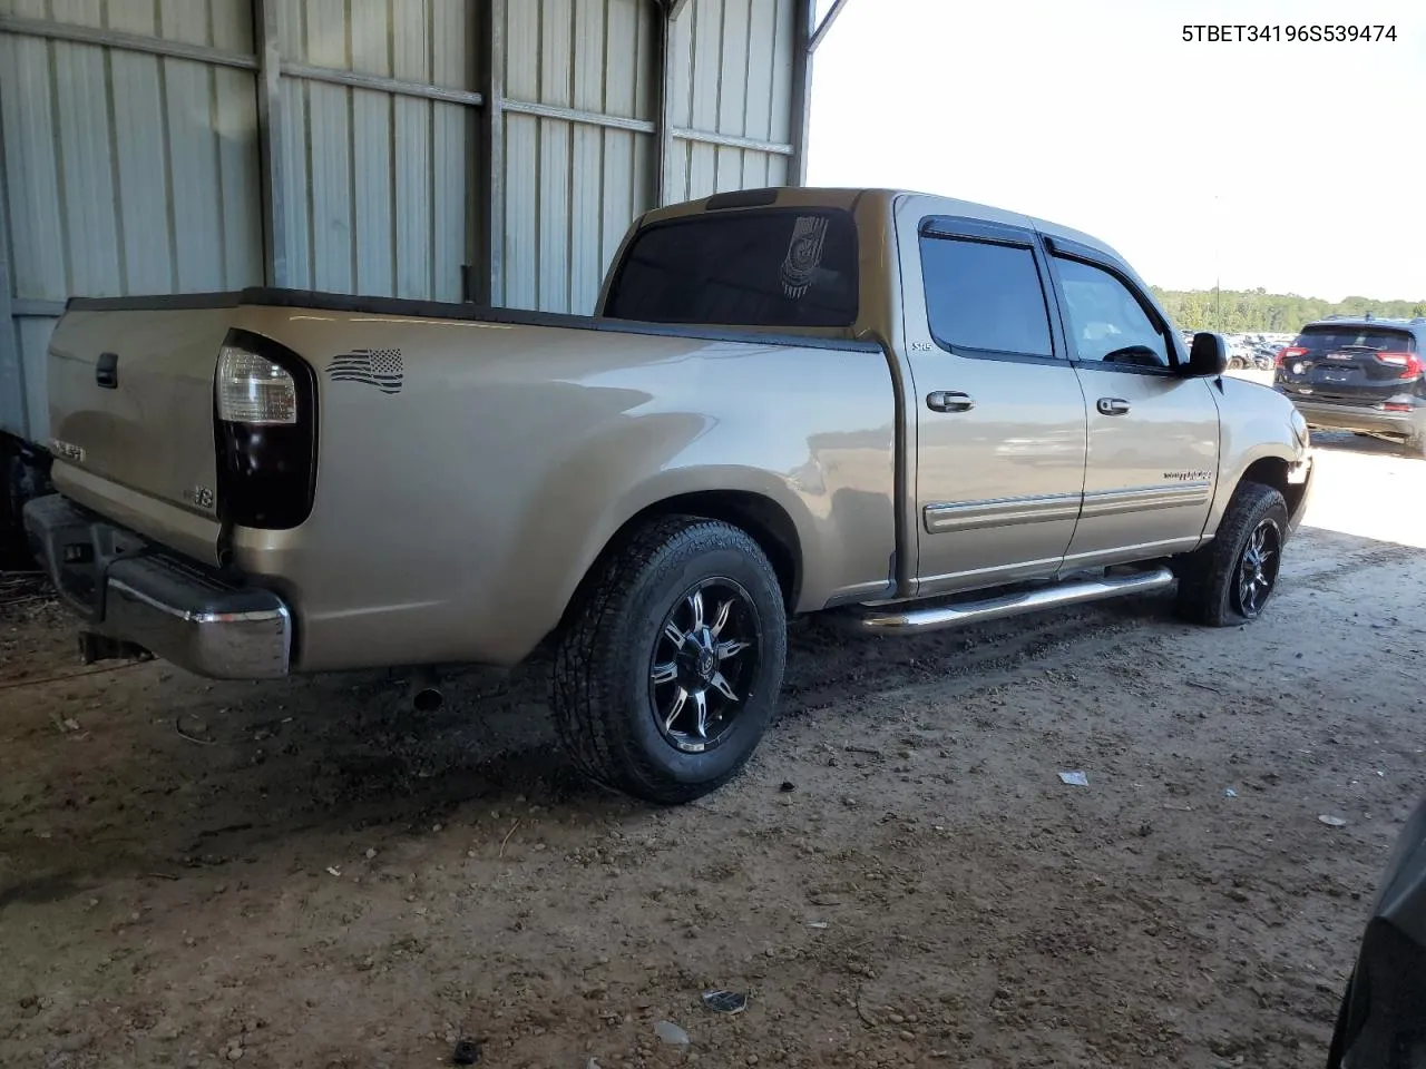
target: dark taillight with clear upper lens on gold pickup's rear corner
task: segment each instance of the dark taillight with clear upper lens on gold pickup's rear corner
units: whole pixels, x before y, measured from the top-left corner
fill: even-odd
[[[218,505],[242,527],[285,530],[312,510],[317,379],[307,361],[250,331],[230,331],[214,379]]]

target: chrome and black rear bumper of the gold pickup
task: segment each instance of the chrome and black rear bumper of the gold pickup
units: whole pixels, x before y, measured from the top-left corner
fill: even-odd
[[[271,590],[227,583],[70,505],[24,509],[36,556],[84,627],[212,678],[287,676],[292,613]]]

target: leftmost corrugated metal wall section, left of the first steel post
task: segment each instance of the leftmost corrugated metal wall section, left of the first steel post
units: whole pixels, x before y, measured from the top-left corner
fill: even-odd
[[[247,66],[0,33],[0,238],[14,322],[11,359],[0,346],[0,428],[43,440],[44,351],[71,294],[262,281],[252,13],[250,0],[0,0],[0,14]]]

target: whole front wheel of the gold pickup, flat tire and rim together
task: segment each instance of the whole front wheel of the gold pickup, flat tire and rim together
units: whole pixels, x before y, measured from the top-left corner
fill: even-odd
[[[1179,613],[1208,627],[1256,620],[1278,587],[1288,503],[1262,483],[1239,483],[1211,543],[1179,569]]]

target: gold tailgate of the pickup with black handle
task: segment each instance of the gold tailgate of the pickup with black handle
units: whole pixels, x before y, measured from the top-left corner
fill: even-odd
[[[71,306],[48,353],[56,487],[208,563],[221,530],[214,371],[234,304]]]

